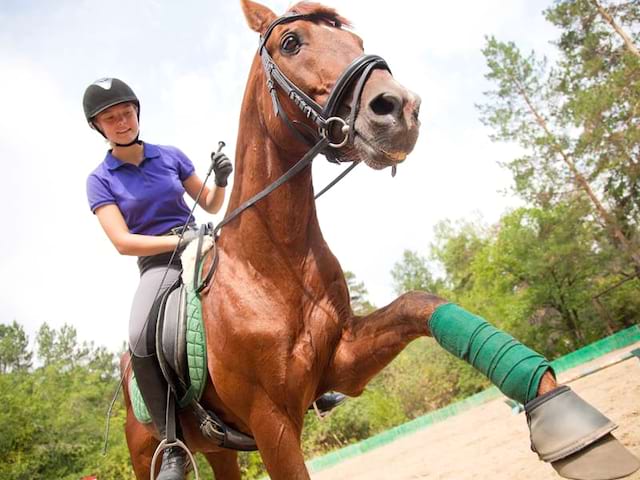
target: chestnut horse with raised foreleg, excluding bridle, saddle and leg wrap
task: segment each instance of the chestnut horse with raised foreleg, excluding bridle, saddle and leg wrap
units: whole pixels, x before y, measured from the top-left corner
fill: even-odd
[[[267,34],[264,47],[273,62],[319,105],[363,54],[361,39],[342,28],[348,21],[331,8],[301,2],[290,12],[305,17],[272,29],[278,17],[271,10],[249,0],[242,0],[242,8],[249,26]],[[284,112],[275,113],[262,61],[259,51],[242,104],[229,211],[280,178],[310,148],[283,117],[303,132],[314,127],[313,119],[278,86]],[[339,105],[340,116],[353,118],[354,128],[350,141],[331,156],[374,169],[393,167],[417,140],[420,99],[386,68],[369,73],[359,97],[350,88]],[[369,315],[354,315],[343,271],[320,230],[310,166],[229,221],[218,247],[219,264],[202,305],[212,379],[202,403],[255,438],[271,478],[309,478],[300,445],[307,407],[330,390],[360,395],[409,342],[429,334],[428,319],[444,300],[412,292]],[[128,395],[125,402],[134,470],[147,479],[158,441],[135,420]],[[205,455],[216,479],[240,478],[235,451],[207,441],[188,413],[180,414],[180,422],[185,443]]]

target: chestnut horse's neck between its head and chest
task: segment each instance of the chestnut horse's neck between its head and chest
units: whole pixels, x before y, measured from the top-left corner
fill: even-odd
[[[264,131],[256,102],[245,98],[228,212],[275,182],[297,160],[295,154],[277,147]],[[313,244],[323,242],[313,199],[311,167],[250,207],[225,229],[227,236],[245,245],[260,242],[262,249],[288,249],[293,255],[304,255]]]

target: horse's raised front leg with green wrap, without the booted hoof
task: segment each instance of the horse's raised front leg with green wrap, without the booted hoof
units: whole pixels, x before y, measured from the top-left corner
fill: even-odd
[[[328,385],[359,394],[410,341],[422,335],[433,336],[521,403],[556,386],[542,355],[484,319],[425,292],[406,293],[367,316],[353,317],[336,349]]]

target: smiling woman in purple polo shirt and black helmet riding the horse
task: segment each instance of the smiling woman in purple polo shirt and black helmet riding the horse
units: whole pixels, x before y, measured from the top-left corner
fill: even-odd
[[[187,192],[196,200],[203,182],[179,149],[139,139],[140,102],[122,80],[96,80],[85,90],[82,103],[91,128],[111,146],[87,179],[87,196],[118,252],[138,257],[140,282],[129,320],[131,365],[153,423],[164,438],[167,383],[155,355],[156,326],[147,322],[147,316],[156,296],[180,276],[179,255],[168,265],[172,252],[178,244],[186,245],[198,231],[183,196]],[[204,187],[198,204],[208,213],[217,213],[233,167],[224,153],[217,153],[212,161],[215,185]],[[185,224],[189,228],[180,241],[178,232]],[[328,411],[344,398],[328,393],[317,400],[317,406]],[[185,464],[182,449],[165,449],[157,479],[182,479]]]

